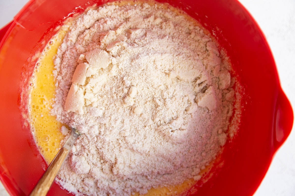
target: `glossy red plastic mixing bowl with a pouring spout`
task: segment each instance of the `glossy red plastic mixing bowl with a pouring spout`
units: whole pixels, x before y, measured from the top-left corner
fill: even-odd
[[[36,58],[65,16],[106,1],[30,1],[11,26],[0,31],[0,179],[11,195],[28,195],[46,167],[20,113]],[[244,88],[237,137],[225,145],[207,182],[195,195],[252,195],[274,153],[288,137],[293,111],[279,84],[276,65],[263,33],[236,0],[165,1],[185,10],[214,32],[230,56]],[[80,6],[80,7],[79,7]],[[188,193],[189,194],[189,193]],[[56,184],[48,195],[68,195]]]

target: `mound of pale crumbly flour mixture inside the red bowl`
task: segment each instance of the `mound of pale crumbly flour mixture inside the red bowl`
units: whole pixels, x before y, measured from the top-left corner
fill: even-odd
[[[226,143],[234,109],[235,80],[221,57],[196,22],[157,5],[81,14],[55,59],[52,113],[83,133],[60,185],[131,195],[199,180]]]

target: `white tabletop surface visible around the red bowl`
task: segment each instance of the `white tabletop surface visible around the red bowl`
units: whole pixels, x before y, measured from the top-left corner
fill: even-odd
[[[218,1],[218,0],[217,0]],[[295,109],[295,0],[240,0],[258,22],[275,58],[281,85]],[[27,0],[0,0],[0,28]],[[0,183],[0,196],[8,193]],[[255,196],[295,195],[295,131],[276,153]]]

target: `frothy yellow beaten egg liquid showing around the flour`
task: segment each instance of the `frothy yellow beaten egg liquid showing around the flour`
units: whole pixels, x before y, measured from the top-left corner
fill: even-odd
[[[58,153],[62,146],[61,141],[64,139],[60,128],[65,125],[58,122],[55,116],[50,115],[50,110],[55,97],[53,61],[67,30],[68,26],[63,26],[45,47],[46,49],[38,61],[40,64],[33,73],[33,88],[30,91],[30,121],[36,143],[48,164]],[[204,173],[204,170],[201,173]],[[152,188],[144,196],[181,195],[195,183],[193,179],[188,179],[180,185]],[[139,194],[136,193],[135,196],[139,196]]]

